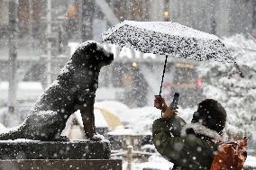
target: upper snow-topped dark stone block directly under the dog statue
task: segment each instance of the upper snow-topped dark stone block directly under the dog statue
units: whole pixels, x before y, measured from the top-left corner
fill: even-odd
[[[109,159],[107,140],[0,140],[0,159]]]

